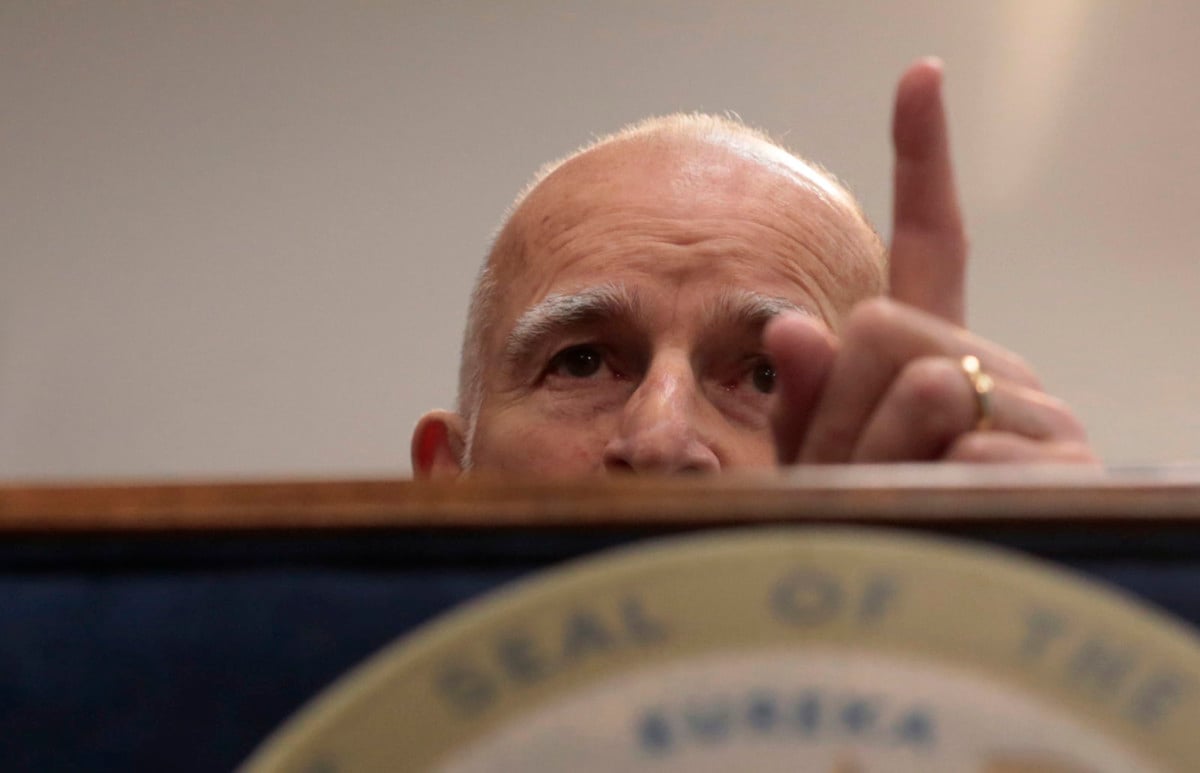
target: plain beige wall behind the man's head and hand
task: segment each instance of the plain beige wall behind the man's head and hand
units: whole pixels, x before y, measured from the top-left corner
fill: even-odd
[[[1200,457],[1200,5],[0,4],[0,478],[408,471],[545,160],[734,110],[886,229],[947,61],[971,318],[1112,462]]]

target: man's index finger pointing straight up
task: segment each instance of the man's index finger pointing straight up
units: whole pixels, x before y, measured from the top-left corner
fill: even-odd
[[[922,59],[896,88],[889,294],[955,324],[966,319],[967,238],[942,106],[942,62]]]

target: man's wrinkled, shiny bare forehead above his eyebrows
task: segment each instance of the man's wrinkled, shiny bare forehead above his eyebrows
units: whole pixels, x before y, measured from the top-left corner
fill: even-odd
[[[880,271],[850,197],[757,140],[601,145],[534,188],[497,244],[497,335],[547,296],[613,281],[727,284],[836,324]]]

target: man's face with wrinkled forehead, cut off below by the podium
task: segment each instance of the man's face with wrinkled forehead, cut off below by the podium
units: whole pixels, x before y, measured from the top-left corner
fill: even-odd
[[[881,288],[845,193],[757,145],[605,145],[524,200],[494,256],[474,469],[715,472],[775,462],[761,332],[836,329]]]

